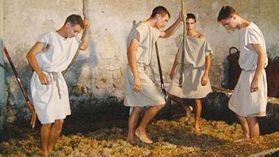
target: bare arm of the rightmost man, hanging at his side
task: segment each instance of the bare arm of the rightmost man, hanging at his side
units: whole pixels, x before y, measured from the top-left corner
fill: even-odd
[[[261,44],[251,44],[252,49],[255,50],[258,54],[257,58],[257,68],[253,77],[253,80],[250,84],[250,91],[255,92],[259,90],[259,78],[262,76],[262,71],[266,64],[266,53],[264,52],[264,46]]]

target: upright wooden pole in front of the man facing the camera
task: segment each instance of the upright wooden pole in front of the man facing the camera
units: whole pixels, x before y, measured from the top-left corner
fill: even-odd
[[[182,11],[184,11],[184,1],[181,0],[181,8]],[[186,37],[187,37],[187,31],[186,31],[186,19],[183,17],[183,47],[182,47],[182,55],[181,55],[181,66],[179,69],[180,75],[179,75],[179,87],[182,87],[183,82],[183,73],[184,73],[184,57],[185,57],[185,50],[186,50]]]

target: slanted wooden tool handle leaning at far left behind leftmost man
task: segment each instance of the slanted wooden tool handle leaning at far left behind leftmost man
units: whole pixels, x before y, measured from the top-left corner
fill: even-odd
[[[9,63],[10,63],[10,67],[13,69],[13,73],[15,75],[15,78],[17,79],[17,83],[20,85],[20,89],[22,89],[22,94],[23,94],[25,100],[27,101],[27,105],[32,112],[31,126],[32,126],[32,128],[34,128],[35,124],[36,124],[36,119],[37,119],[36,118],[36,112],[34,110],[34,107],[31,103],[31,101],[28,98],[27,91],[24,89],[24,87],[22,85],[22,80],[20,80],[20,77],[17,75],[17,70],[15,70],[15,66],[13,65],[12,59],[10,59],[10,54],[8,54],[8,50],[6,49],[6,47],[4,47],[4,52],[5,52],[6,57],[9,61]]]

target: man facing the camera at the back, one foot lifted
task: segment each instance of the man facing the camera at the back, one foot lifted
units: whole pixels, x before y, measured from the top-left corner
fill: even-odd
[[[187,99],[195,100],[195,133],[199,133],[199,119],[202,112],[201,98],[206,97],[211,92],[209,82],[209,68],[211,65],[211,55],[213,52],[202,33],[195,30],[196,17],[193,13],[188,13],[186,18],[186,50],[184,56],[183,82],[179,86],[181,77],[180,69],[182,65],[181,56],[183,50],[183,35],[179,36],[179,50],[174,59],[174,65],[169,73],[172,82],[169,84],[169,98],[179,103],[186,110],[187,120],[190,117],[191,108],[186,104]],[[178,39],[179,40],[179,39]],[[177,42],[178,43],[178,42]]]

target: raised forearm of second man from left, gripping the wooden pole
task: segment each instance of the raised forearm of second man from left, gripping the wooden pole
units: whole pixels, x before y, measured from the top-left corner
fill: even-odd
[[[174,34],[176,32],[176,30],[179,28],[181,22],[183,21],[183,17],[185,17],[185,16],[186,16],[186,12],[185,11],[183,11],[183,12],[181,11],[179,13],[179,17],[172,24],[172,26],[167,28],[167,30],[160,32],[160,38],[169,38],[169,36],[172,36],[172,34]]]

